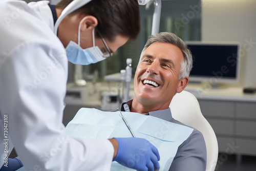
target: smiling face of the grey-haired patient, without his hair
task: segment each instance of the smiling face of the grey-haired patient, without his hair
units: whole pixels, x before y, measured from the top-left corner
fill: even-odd
[[[180,88],[183,54],[172,44],[155,42],[142,54],[135,77],[135,98],[147,105],[169,106]],[[153,81],[153,82],[152,82]]]

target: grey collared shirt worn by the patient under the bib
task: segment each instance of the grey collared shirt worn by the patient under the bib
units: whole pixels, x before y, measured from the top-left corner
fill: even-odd
[[[123,102],[121,105],[121,111],[130,112],[131,104],[132,100],[127,101],[127,103]],[[185,125],[172,117],[170,108],[160,111],[152,111],[147,115],[154,116],[169,122]],[[204,171],[205,169],[206,146],[204,137],[201,132],[194,129],[190,136],[179,146],[169,171]]]

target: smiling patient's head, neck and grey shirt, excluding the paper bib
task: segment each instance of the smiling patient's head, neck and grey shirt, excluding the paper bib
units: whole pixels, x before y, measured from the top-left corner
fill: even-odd
[[[134,77],[133,100],[122,103],[121,111],[151,115],[182,124],[169,109],[175,93],[184,90],[193,65],[185,43],[173,33],[151,35],[142,50]],[[184,124],[182,124],[184,125]],[[169,170],[206,169],[206,146],[203,135],[195,130],[179,146]]]

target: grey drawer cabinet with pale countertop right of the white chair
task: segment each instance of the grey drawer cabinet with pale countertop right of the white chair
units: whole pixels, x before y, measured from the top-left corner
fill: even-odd
[[[220,153],[256,156],[256,94],[233,88],[196,97],[215,131]]]

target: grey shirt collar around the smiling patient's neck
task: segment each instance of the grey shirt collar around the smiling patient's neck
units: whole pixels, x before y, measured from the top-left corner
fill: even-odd
[[[121,111],[130,112],[130,107],[131,107],[132,102],[133,102],[133,100],[123,102],[121,104]],[[146,115],[154,116],[154,117],[166,120],[166,121],[171,121],[173,119],[172,112],[170,112],[170,108],[164,109],[164,110],[159,110],[159,111],[152,111]]]

